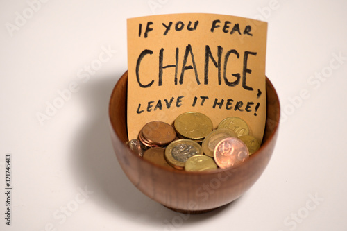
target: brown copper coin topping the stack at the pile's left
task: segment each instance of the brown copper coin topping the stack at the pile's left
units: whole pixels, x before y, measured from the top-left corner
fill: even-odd
[[[146,123],[142,128],[142,137],[149,143],[164,146],[176,138],[175,129],[162,121]]]

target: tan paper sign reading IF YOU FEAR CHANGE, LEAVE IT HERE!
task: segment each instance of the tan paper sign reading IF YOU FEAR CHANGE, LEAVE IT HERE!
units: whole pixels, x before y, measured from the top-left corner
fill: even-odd
[[[214,14],[128,19],[128,138],[150,121],[240,117],[262,139],[267,23]]]

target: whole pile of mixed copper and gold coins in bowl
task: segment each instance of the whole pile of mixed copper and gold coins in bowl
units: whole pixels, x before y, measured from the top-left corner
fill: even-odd
[[[223,119],[213,130],[210,118],[185,112],[174,126],[152,121],[126,144],[144,160],[164,168],[185,171],[226,169],[241,164],[260,148],[247,123],[239,117]]]

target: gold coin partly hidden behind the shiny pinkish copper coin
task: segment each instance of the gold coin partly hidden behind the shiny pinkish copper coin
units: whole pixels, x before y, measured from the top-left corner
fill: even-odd
[[[227,137],[237,137],[234,130],[229,128],[220,128],[210,132],[205,139],[203,140],[203,144],[201,144],[203,148],[203,153],[210,157],[213,157],[214,148],[216,145],[224,138]]]

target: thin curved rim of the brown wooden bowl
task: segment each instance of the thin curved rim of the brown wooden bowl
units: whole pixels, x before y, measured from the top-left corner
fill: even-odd
[[[128,70],[126,70],[124,72],[124,74],[119,78],[119,80],[121,80],[121,78],[128,78]],[[112,110],[112,102],[113,102],[113,96],[115,95],[115,92],[116,92],[116,89],[117,89],[117,85],[119,84],[119,80],[117,80],[117,83],[115,85],[115,87],[113,87],[112,89],[112,93],[110,95],[110,100],[109,100],[109,105],[108,105],[108,121],[110,123],[110,127],[112,128],[112,132],[115,133],[117,139],[119,139],[119,142],[121,142],[121,139],[119,138],[119,135],[117,134],[117,132],[115,132],[115,126],[113,125],[112,123],[112,113],[111,113],[111,110]],[[128,83],[128,79],[126,80]],[[144,161],[144,162],[147,162],[148,164],[150,164],[151,166],[155,167],[155,168],[158,168],[158,169],[162,169],[163,171],[168,171],[170,173],[178,173],[178,174],[183,174],[183,175],[189,175],[189,176],[203,176],[203,175],[210,175],[210,174],[218,174],[218,173],[221,173],[221,172],[224,172],[224,171],[236,171],[237,169],[240,169],[242,168],[243,166],[247,165],[247,163],[251,162],[251,160],[253,160],[255,157],[257,157],[257,155],[260,155],[260,151],[262,151],[266,146],[269,145],[269,143],[272,141],[273,137],[276,135],[276,133],[278,132],[278,128],[279,128],[279,125],[280,125],[280,100],[278,98],[278,94],[276,92],[276,89],[275,87],[273,87],[273,84],[271,83],[271,81],[269,80],[269,78],[267,76],[265,76],[265,81],[266,81],[266,85],[269,84],[269,88],[272,89],[273,92],[275,92],[275,95],[276,95],[276,108],[278,108],[278,112],[277,112],[277,116],[276,116],[276,124],[273,128],[273,132],[271,132],[271,134],[269,135],[269,137],[266,139],[266,141],[263,143],[262,142],[262,145],[260,146],[260,148],[255,152],[253,153],[252,155],[250,155],[248,157],[248,160],[246,160],[245,162],[242,162],[241,164],[237,165],[237,166],[233,166],[233,167],[229,167],[229,168],[226,168],[226,169],[221,169],[221,168],[218,168],[218,169],[214,169],[214,170],[209,170],[209,171],[184,171],[184,170],[179,170],[179,169],[169,169],[169,168],[166,168],[164,166],[160,166],[158,164],[155,164],[153,162],[150,162],[149,160],[145,160],[144,158],[140,157],[139,155],[136,155],[135,153],[133,153],[130,148],[124,144],[124,142],[121,142],[123,146],[125,146],[127,149],[128,149],[128,152],[130,152],[133,156],[139,158],[141,161]],[[126,87],[128,87],[128,85],[126,85]],[[267,91],[266,91],[267,92]],[[266,99],[267,101],[267,99]],[[266,121],[267,121],[267,116],[266,116]],[[265,122],[265,126],[266,126],[266,122]],[[127,130],[127,126],[126,126],[126,130]],[[265,128],[264,128],[265,129]],[[128,139],[128,132],[126,132],[126,137]]]

